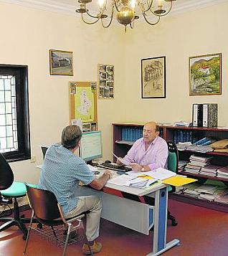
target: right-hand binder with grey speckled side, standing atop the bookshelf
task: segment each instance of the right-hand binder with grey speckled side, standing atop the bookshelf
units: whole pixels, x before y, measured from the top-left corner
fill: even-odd
[[[203,104],[203,127],[216,127],[218,125],[218,104]]]

